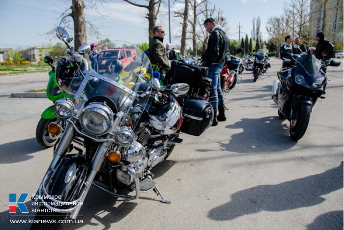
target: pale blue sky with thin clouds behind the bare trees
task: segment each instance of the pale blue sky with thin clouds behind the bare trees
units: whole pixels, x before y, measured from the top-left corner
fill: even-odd
[[[145,8],[132,6],[122,0],[106,0],[96,8],[86,4],[86,20],[99,28],[100,39],[123,40],[130,43],[148,42],[148,20],[144,18]],[[134,0],[135,1],[135,0]],[[87,2],[85,0],[85,2]],[[147,4],[146,0],[135,2]],[[168,0],[163,3],[158,14],[156,25],[162,25],[166,32],[164,43],[169,42]],[[230,39],[239,38],[239,22],[241,37],[250,37],[252,19],[260,17],[261,32],[264,40],[268,34],[265,25],[270,16],[282,14],[283,0],[210,0],[216,8],[223,11],[227,19],[227,35]],[[184,3],[170,0],[171,4],[171,41],[172,47],[180,44],[181,19],[173,17],[174,11],[182,12]],[[0,0],[0,46],[24,49],[32,46],[55,44],[59,40],[46,35],[59,23],[62,12],[71,5],[71,0]],[[204,18],[205,19],[205,18]],[[204,19],[201,19],[202,21]],[[70,31],[71,34],[72,31]],[[96,36],[88,34],[87,42],[99,41]],[[191,41],[188,45],[191,46]]]

